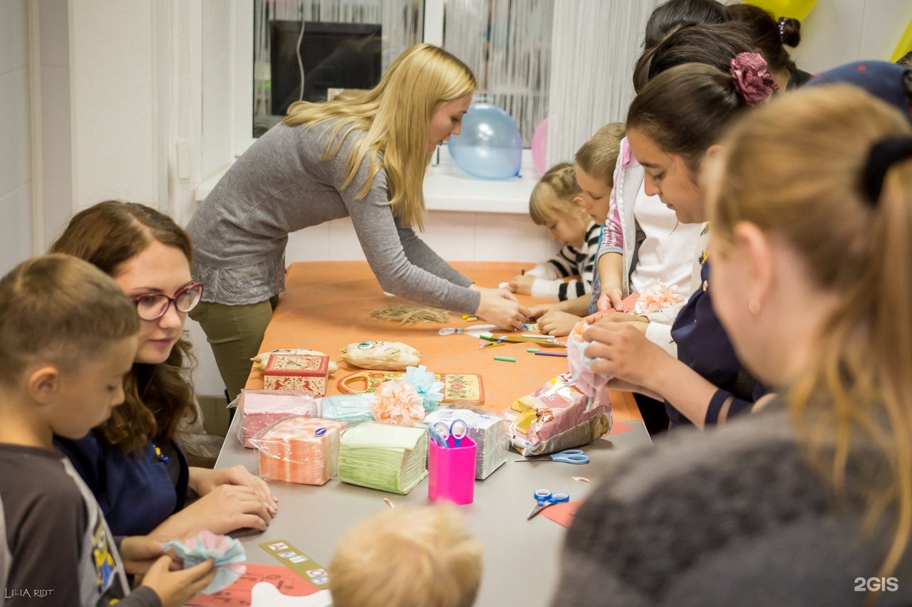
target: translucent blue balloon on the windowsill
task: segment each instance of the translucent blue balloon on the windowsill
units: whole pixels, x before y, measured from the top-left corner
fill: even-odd
[[[490,103],[469,107],[460,134],[451,136],[448,148],[457,167],[484,180],[515,177],[523,163],[523,137],[516,121]]]

